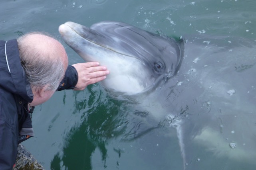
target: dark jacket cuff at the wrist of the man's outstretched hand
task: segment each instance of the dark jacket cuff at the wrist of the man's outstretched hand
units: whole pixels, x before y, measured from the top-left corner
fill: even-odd
[[[65,89],[73,89],[78,81],[78,74],[75,70],[74,66],[67,66],[67,70],[65,72],[65,76],[63,80],[60,82],[59,88],[57,91],[65,90]]]

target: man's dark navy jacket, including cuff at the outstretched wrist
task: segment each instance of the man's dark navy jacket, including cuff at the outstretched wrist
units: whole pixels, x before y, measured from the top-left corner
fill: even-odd
[[[58,90],[74,88],[77,79],[75,68],[68,66]],[[32,100],[16,39],[0,41],[0,170],[11,170],[18,143],[34,136],[28,113]]]

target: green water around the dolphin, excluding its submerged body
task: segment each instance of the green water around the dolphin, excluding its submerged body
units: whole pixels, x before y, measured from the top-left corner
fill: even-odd
[[[62,41],[58,26],[66,21],[90,26],[113,20],[175,37],[204,34],[255,42],[255,7],[255,0],[1,0],[0,39],[46,31]],[[83,62],[64,46],[69,64]],[[129,104],[111,98],[99,84],[81,92],[56,92],[36,107],[32,116],[36,136],[23,144],[46,169],[183,169],[175,130],[151,128],[152,122],[144,121],[144,116],[134,113]],[[252,142],[254,139],[255,134]],[[217,159],[209,150],[193,146],[200,150],[194,164],[204,169],[256,169],[255,164],[236,164],[230,157]]]

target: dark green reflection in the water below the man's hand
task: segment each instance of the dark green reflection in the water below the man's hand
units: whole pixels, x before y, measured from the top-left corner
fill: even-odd
[[[125,122],[121,120],[124,116],[116,116],[120,110],[120,102],[109,98],[102,104],[90,106],[98,100],[96,97],[91,95],[87,104],[86,101],[76,102],[76,112],[83,112],[85,105],[91,108],[82,113],[81,124],[74,126],[65,137],[63,154],[57,153],[54,156],[51,162],[52,170],[60,170],[63,167],[91,170],[91,156],[96,148],[100,150],[106,168],[107,142],[123,133]]]

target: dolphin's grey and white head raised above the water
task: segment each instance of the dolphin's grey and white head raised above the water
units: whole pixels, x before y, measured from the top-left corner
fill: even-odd
[[[126,94],[144,92],[164,76],[175,75],[183,59],[183,41],[126,23],[103,21],[89,28],[66,22],[59,32],[85,61],[98,61],[110,70],[101,82],[105,88]]]

